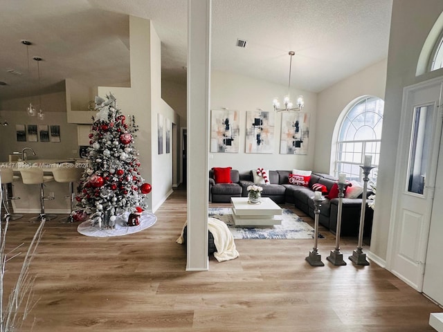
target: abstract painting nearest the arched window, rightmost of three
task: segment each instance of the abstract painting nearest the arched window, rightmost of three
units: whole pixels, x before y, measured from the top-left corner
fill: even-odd
[[[280,154],[307,154],[309,143],[309,113],[282,113]]]

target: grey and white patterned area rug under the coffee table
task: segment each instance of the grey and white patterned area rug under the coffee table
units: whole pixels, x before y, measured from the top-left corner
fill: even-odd
[[[282,209],[281,225],[266,228],[235,226],[230,208],[210,208],[208,215],[224,221],[234,239],[314,239],[314,228],[288,209]]]

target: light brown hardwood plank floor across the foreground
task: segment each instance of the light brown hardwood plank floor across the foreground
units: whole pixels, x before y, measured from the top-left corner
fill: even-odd
[[[175,242],[186,191],[175,191],[156,216],[152,228],[109,238],[85,237],[61,217],[47,221],[30,268],[39,300],[23,331],[35,316],[34,332],[421,332],[434,331],[429,313],[442,311],[377,264],[353,266],[354,238],[341,241],[347,266],[329,264],[335,239],[324,229],[324,267],[305,261],[312,240],[236,240],[239,258],[211,256],[208,272],[186,272],[186,247]],[[28,217],[10,222],[8,248],[28,246],[37,229]],[[8,262],[5,289],[20,263]]]

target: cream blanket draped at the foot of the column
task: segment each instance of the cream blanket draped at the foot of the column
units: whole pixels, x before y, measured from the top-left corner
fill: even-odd
[[[187,223],[183,225],[183,230]],[[183,230],[177,243],[183,243]],[[214,257],[217,261],[228,261],[229,259],[235,259],[239,257],[237,248],[235,248],[235,242],[233,234],[230,233],[228,226],[223,221],[216,218],[208,218],[208,230],[213,234],[215,248],[217,252],[214,252]]]

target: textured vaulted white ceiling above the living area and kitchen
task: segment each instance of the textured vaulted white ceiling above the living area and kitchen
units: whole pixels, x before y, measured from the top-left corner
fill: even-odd
[[[388,55],[392,0],[213,0],[213,69],[318,92]],[[186,0],[1,0],[0,99],[91,86],[129,85],[129,20],[151,19],[162,75],[186,84]],[[246,48],[235,46],[246,39]],[[15,76],[7,71],[22,73]]]

